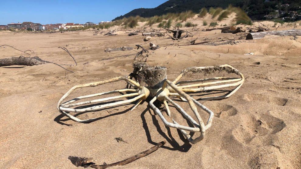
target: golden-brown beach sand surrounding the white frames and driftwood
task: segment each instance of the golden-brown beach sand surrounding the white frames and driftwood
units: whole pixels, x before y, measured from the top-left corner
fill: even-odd
[[[201,24],[202,19],[194,19]],[[222,64],[234,66],[246,78],[230,98],[200,101],[215,117],[205,138],[197,144],[190,144],[176,129],[165,127],[147,102],[133,111],[129,110],[134,104],[129,104],[77,116],[100,117],[87,124],[62,116],[56,108],[57,102],[72,86],[131,73],[134,56],[102,61],[135,53],[132,50],[105,53],[108,47],[148,46],[141,33],[127,36],[125,32],[130,31],[116,36],[93,35],[93,30],[52,34],[0,32],[0,45],[31,49],[32,56],[72,64],[65,67],[75,72],[68,73],[54,64],[0,67],[0,168],[76,168],[69,156],[94,157],[96,164],[110,164],[162,140],[167,143],[154,153],[115,168],[301,167],[301,37],[241,40],[236,45],[175,46],[196,37],[200,40],[232,36],[219,31],[192,31],[193,38],[180,42],[164,37],[150,40],[160,46],[174,44],[150,52],[147,58],[150,65],[167,67],[170,80],[190,66]],[[78,66],[57,48],[66,45]],[[254,55],[244,55],[250,52]],[[0,59],[20,55],[27,56],[9,47],[0,48]],[[263,62],[254,64],[258,61]],[[212,75],[201,74],[197,78],[209,76]],[[70,98],[124,87],[124,82],[116,82],[76,90]],[[179,104],[188,110],[186,103]],[[187,125],[179,113],[172,111],[174,118]],[[208,118],[204,112],[201,116]],[[129,144],[117,143],[115,137],[122,137]]]

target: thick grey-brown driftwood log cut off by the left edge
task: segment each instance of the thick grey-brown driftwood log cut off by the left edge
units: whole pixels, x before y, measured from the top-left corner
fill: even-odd
[[[29,58],[24,56],[0,59],[0,66],[12,66],[12,65],[34,66],[34,65],[42,65],[42,64],[45,64],[45,62],[35,58]]]

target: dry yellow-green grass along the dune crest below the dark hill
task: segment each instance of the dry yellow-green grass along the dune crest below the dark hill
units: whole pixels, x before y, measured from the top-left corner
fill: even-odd
[[[206,12],[206,13],[205,13]],[[247,14],[240,8],[233,7],[231,5],[228,6],[226,9],[222,8],[210,8],[209,13],[211,13],[213,19],[217,19],[218,21],[222,21],[225,18],[228,18],[228,16],[231,13],[235,13],[234,21],[236,21],[237,24],[245,24],[245,25],[252,25],[251,19],[247,16]],[[138,25],[138,22],[145,22],[144,26],[153,26],[156,23],[159,23],[157,25],[158,28],[170,28],[171,23],[175,21],[176,27],[182,27],[182,22],[185,22],[187,19],[192,18],[197,13],[192,11],[186,11],[181,13],[167,13],[164,15],[155,15],[149,18],[144,18],[140,16],[130,16],[129,18],[123,18],[118,19],[116,21],[113,21],[111,23],[104,23],[94,26],[86,26],[86,27],[75,27],[71,29],[60,29],[60,31],[77,31],[77,30],[86,30],[86,29],[108,29],[113,26],[122,26],[123,28],[134,28]],[[203,8],[201,12],[199,13],[199,17],[206,16],[207,9]],[[203,21],[203,25],[207,25],[206,21]],[[194,27],[197,26],[197,24],[194,24],[192,22],[186,22],[184,24],[185,27]],[[217,26],[217,22],[210,23],[210,26]]]

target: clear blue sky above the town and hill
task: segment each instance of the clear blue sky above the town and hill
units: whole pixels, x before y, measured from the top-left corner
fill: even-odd
[[[154,8],[167,0],[3,0],[0,25],[11,22],[85,23],[111,21],[136,8]],[[151,2],[151,3],[150,3]]]

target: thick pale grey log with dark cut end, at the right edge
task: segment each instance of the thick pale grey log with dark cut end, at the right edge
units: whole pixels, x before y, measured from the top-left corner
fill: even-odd
[[[301,29],[290,29],[283,31],[270,31],[270,32],[254,32],[248,33],[246,40],[261,39],[265,35],[278,35],[278,36],[301,36]]]

